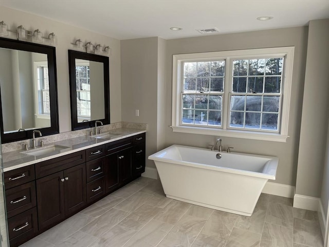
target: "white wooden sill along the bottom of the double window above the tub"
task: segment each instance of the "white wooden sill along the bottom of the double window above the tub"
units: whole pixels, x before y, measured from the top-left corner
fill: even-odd
[[[189,126],[170,126],[173,132],[200,134],[200,135],[215,135],[223,137],[233,137],[242,139],[253,140],[266,140],[269,142],[286,143],[289,136],[281,135],[277,133],[260,133],[260,132],[248,132],[241,130],[223,130],[223,129],[210,129],[202,127],[189,127]]]

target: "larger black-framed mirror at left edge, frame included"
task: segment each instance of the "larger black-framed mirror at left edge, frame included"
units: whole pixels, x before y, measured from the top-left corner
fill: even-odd
[[[59,133],[56,49],[0,38],[2,143]]]

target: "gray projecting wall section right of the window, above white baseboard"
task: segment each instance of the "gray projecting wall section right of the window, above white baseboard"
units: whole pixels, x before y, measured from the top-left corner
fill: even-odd
[[[328,45],[329,19],[310,21],[296,193],[317,198],[321,193],[328,119]]]

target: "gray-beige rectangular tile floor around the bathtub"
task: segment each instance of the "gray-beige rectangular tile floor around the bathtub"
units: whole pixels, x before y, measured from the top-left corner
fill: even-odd
[[[165,197],[158,180],[139,178],[24,247],[322,247],[317,213],[262,194],[251,217]]]

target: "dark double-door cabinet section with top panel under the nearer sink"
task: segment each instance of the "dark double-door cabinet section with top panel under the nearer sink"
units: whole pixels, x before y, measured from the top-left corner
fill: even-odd
[[[85,152],[80,151],[35,165],[35,175],[39,178],[36,180],[36,197],[40,231],[62,221],[86,205],[84,162]],[[57,172],[52,173],[54,171]],[[43,175],[46,176],[42,177]]]

